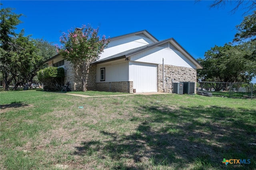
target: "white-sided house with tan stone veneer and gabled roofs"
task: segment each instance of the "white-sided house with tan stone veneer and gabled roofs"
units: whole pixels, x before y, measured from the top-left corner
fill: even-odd
[[[81,76],[61,55],[45,63],[64,67],[71,90],[82,90]],[[173,38],[158,41],[143,30],[110,39],[100,59],[92,63],[87,90],[171,92],[172,82],[196,82],[196,69],[201,68]]]

